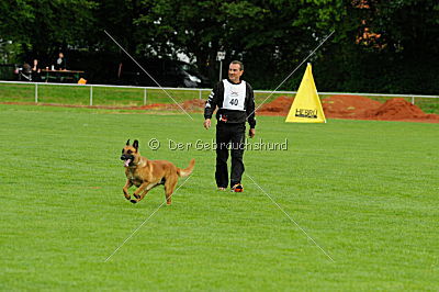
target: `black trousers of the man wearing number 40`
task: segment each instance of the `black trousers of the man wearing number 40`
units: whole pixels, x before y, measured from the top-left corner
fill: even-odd
[[[230,187],[240,183],[244,172],[245,124],[216,124],[216,171],[215,179],[218,188],[227,188],[228,151],[232,153]]]

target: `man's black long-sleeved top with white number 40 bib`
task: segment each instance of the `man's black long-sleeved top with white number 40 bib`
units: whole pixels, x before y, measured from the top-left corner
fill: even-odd
[[[255,128],[255,96],[248,82],[233,83],[227,79],[217,82],[206,101],[204,119],[212,119],[216,106],[217,121],[238,124],[247,120],[250,128]]]

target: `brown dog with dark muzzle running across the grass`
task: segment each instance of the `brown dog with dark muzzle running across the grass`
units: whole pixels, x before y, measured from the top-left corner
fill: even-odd
[[[195,165],[195,159],[193,158],[185,169],[178,168],[167,160],[149,160],[140,156],[138,151],[138,141],[134,141],[133,145],[130,145],[130,139],[122,149],[121,159],[125,161],[124,167],[126,175],[126,183],[123,187],[123,192],[126,200],[130,200],[132,203],[137,203],[144,199],[153,188],[164,184],[166,203],[170,205],[178,178],[191,175]],[[128,189],[132,186],[137,187],[137,190],[133,193],[135,199],[131,199],[128,193]]]

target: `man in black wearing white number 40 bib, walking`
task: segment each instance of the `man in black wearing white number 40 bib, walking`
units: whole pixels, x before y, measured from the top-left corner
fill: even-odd
[[[232,154],[230,190],[243,192],[244,148],[246,121],[250,125],[249,136],[255,137],[255,97],[251,86],[241,80],[244,65],[234,60],[228,67],[228,78],[216,83],[204,108],[204,127],[209,130],[216,108],[216,170],[218,190],[228,186],[227,159]]]

